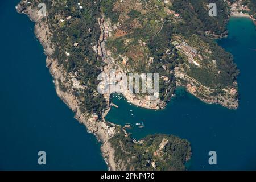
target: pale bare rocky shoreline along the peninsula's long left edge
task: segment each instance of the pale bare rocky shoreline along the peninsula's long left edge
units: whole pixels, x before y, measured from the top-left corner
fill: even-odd
[[[108,168],[110,170],[117,170],[118,166],[114,161],[114,149],[109,143],[109,138],[111,138],[113,135],[110,134],[109,131],[114,131],[116,125],[105,122],[105,119],[103,119],[104,121],[95,121],[95,119],[92,118],[89,113],[82,113],[79,109],[79,100],[73,96],[72,93],[63,92],[63,90],[60,89],[59,80],[64,80],[66,77],[68,77],[68,73],[61,68],[56,59],[51,59],[50,57],[54,49],[54,47],[51,47],[50,39],[48,39],[48,37],[51,36],[51,32],[49,31],[47,23],[42,21],[42,17],[38,15],[38,11],[32,9],[30,6],[23,6],[23,3],[24,2],[20,2],[16,6],[16,10],[18,13],[26,14],[32,22],[35,22],[34,32],[36,38],[38,38],[39,42],[43,45],[44,53],[47,56],[46,66],[49,68],[49,71],[54,79],[57,95],[75,113],[75,118],[86,126],[88,132],[93,133],[98,141],[101,142],[102,156],[108,164]],[[106,113],[104,114],[106,115]]]

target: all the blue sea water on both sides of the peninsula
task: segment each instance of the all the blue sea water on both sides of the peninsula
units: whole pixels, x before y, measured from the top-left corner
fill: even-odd
[[[100,144],[57,97],[34,24],[16,13],[18,2],[0,2],[0,169],[107,169]],[[232,18],[228,29],[228,38],[218,43],[234,55],[241,72],[237,110],[204,104],[179,89],[160,111],[114,98],[119,108],[106,119],[122,125],[144,122],[144,129],[130,131],[137,139],[154,133],[188,139],[191,170],[256,169],[255,26],[250,19]],[[40,150],[47,154],[45,166],[38,165]],[[208,164],[211,150],[217,152],[216,166]]]

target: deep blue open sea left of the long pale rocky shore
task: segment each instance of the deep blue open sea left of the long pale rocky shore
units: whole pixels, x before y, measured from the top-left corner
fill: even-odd
[[[106,170],[100,143],[57,97],[34,23],[0,1],[0,170]],[[38,151],[46,151],[39,166]]]

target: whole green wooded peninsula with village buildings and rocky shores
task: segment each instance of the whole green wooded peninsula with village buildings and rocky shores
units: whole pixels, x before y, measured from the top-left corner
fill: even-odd
[[[46,5],[45,16],[40,3]],[[136,141],[122,126],[105,121],[111,96],[97,92],[102,72],[159,73],[157,100],[121,90],[137,106],[163,109],[176,87],[184,86],[204,102],[237,109],[239,71],[233,56],[214,41],[226,36],[234,2],[216,1],[217,17],[208,15],[209,3],[23,0],[16,7],[35,22],[58,96],[102,143],[110,169],[184,170],[192,152],[185,139],[155,134]],[[255,6],[247,4],[254,15]]]

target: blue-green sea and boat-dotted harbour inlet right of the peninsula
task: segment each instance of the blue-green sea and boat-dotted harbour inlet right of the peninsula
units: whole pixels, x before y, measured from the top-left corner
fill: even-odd
[[[113,98],[108,121],[135,127],[129,132],[134,138],[147,134],[166,133],[188,139],[192,144],[191,170],[256,169],[256,32],[247,18],[231,18],[228,38],[218,43],[234,56],[238,77],[240,106],[229,110],[220,105],[204,104],[179,89],[167,108],[153,111]],[[132,112],[130,110],[133,110]],[[133,115],[131,115],[133,113]],[[139,129],[135,123],[144,122]],[[210,166],[208,152],[217,152],[217,165]]]

